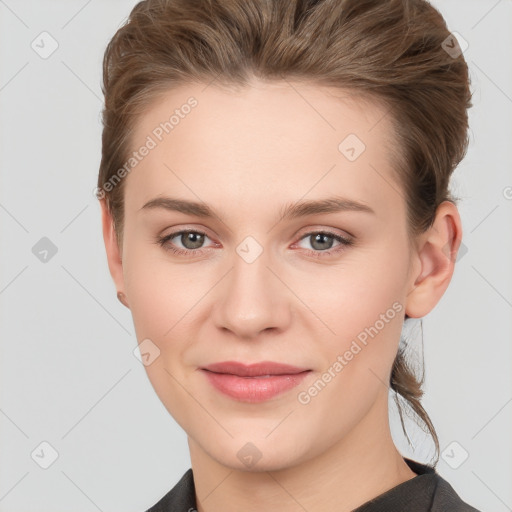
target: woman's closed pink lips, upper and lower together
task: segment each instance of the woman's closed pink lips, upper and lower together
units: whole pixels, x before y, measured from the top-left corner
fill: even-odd
[[[289,391],[311,371],[271,361],[250,365],[226,361],[200,370],[217,391],[239,402],[248,403],[263,402]]]

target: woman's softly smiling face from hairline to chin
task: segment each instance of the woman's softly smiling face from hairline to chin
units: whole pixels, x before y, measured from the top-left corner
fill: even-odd
[[[116,284],[155,391],[218,463],[290,467],[387,428],[414,285],[392,144],[384,109],[284,81],[182,87],[137,124]],[[308,371],[221,391],[204,368],[226,361]]]

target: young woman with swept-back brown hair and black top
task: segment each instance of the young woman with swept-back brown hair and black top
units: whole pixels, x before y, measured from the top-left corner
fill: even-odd
[[[146,0],[108,45],[98,197],[192,468],[157,511],[475,511],[400,337],[446,291],[468,70],[423,0]]]

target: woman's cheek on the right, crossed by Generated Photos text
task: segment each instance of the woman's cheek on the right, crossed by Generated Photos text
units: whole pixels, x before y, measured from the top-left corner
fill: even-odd
[[[326,368],[341,356],[331,373],[342,376],[333,380],[347,399],[346,389],[355,387],[361,396],[372,393],[372,383],[386,382],[405,315],[406,249],[391,252],[383,245],[359,253],[355,260],[347,258],[335,274],[315,279],[318,287],[303,290],[311,309],[329,327],[321,338]]]

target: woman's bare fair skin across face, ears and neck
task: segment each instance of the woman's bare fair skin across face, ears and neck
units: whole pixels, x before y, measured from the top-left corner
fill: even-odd
[[[198,510],[352,510],[415,476],[390,435],[388,382],[404,315],[425,316],[450,282],[457,208],[442,203],[432,228],[409,240],[386,111],[304,83],[172,90],[139,119],[133,148],[190,96],[197,106],[124,178],[122,251],[101,207],[109,269],[137,340],[160,350],[148,377],[188,436]],[[338,149],[349,134],[366,146],[354,161]],[[333,195],[374,213],[280,220],[287,204]],[[142,209],[161,196],[208,203],[217,216]],[[185,246],[178,235],[167,247],[199,253],[156,243],[180,229],[207,237]],[[353,244],[315,244],[322,230]],[[251,263],[237,252],[246,237],[262,249]],[[394,303],[401,311],[300,403],[298,393]],[[312,371],[297,388],[250,404],[220,394],[198,370],[227,360]],[[261,455],[251,467],[237,456],[246,443]]]

